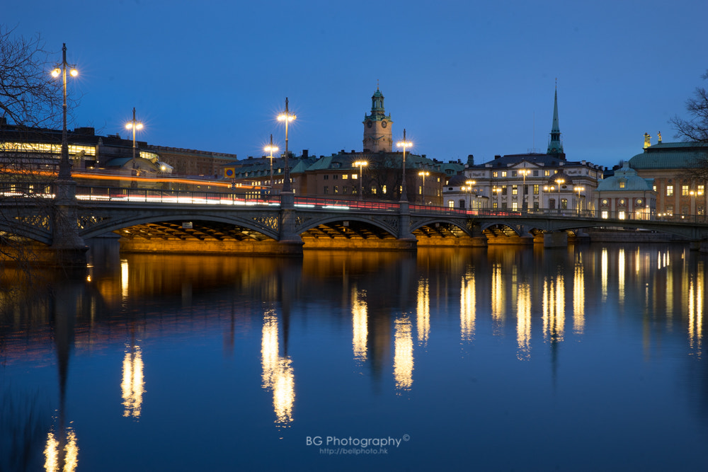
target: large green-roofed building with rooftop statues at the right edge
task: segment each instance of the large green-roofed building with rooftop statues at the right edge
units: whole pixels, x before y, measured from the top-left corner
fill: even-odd
[[[708,145],[692,142],[661,142],[652,145],[644,134],[644,151],[629,159],[629,167],[642,178],[653,179],[656,212],[659,217],[705,217],[708,207],[706,182],[695,178],[692,169],[701,166]]]

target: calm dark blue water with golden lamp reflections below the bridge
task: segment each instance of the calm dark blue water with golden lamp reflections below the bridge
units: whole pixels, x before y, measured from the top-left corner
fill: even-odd
[[[683,246],[92,260],[4,274],[3,471],[708,463],[708,258]]]

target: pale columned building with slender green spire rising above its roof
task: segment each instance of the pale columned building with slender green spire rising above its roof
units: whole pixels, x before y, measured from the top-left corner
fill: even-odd
[[[588,161],[569,161],[561,141],[558,92],[554,96],[553,123],[547,151],[494,156],[474,164],[472,156],[464,169],[464,185],[447,185],[447,207],[472,207],[534,211],[572,209],[593,211],[593,192],[603,178],[602,166]],[[469,194],[469,195],[468,195]],[[472,199],[474,195],[474,199]]]

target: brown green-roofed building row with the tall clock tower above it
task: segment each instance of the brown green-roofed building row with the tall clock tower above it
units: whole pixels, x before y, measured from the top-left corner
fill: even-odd
[[[377,88],[371,113],[362,122],[362,151],[345,151],[330,156],[288,156],[292,190],[296,195],[355,200],[399,200],[403,179],[403,153],[393,150],[393,120],[386,114],[384,96]],[[273,190],[282,188],[284,161],[273,157]],[[250,157],[222,166],[224,178],[239,186],[270,187],[270,158]],[[447,180],[462,171],[459,161],[444,163],[426,154],[406,151],[406,199],[422,205],[442,205]]]

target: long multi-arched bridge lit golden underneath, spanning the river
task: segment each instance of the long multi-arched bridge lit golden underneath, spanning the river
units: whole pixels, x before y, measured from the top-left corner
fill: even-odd
[[[450,209],[409,202],[333,200],[282,194],[77,187],[0,200],[0,236],[36,241],[80,259],[90,238],[120,236],[139,252],[300,254],[302,248],[414,250],[542,242],[566,246],[583,229],[675,234],[706,245],[705,221],[602,219],[565,210]],[[703,217],[704,218],[704,217]],[[118,236],[115,236],[118,235]]]

